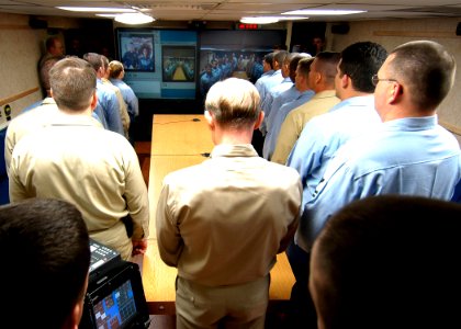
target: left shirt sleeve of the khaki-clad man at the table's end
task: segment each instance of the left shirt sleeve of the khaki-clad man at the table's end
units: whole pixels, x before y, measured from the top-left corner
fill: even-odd
[[[183,249],[183,241],[179,227],[171,214],[169,185],[164,181],[157,204],[156,230],[160,258],[167,265],[177,266]]]

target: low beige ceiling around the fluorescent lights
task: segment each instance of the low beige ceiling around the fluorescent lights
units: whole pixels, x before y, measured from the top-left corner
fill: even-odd
[[[239,21],[243,16],[280,15],[299,9],[353,9],[366,13],[311,16],[308,21],[461,16],[461,0],[0,0],[0,12],[70,18],[94,18],[56,9],[58,5],[134,8],[160,21]]]

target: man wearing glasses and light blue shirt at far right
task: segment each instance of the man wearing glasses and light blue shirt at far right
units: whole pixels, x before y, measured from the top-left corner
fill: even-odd
[[[437,124],[436,109],[454,72],[453,57],[435,42],[411,42],[391,53],[372,77],[383,124],[351,139],[330,161],[300,220],[303,250],[308,252],[329,217],[355,200],[379,194],[450,200],[461,178],[460,147]]]

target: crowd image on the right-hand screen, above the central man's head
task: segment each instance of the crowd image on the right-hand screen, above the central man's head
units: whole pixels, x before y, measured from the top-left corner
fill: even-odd
[[[217,81],[236,77],[256,82],[262,75],[262,58],[271,50],[204,50],[200,63],[200,92],[204,97]]]

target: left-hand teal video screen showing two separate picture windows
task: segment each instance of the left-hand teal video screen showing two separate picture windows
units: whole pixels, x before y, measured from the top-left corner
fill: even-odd
[[[195,99],[195,31],[119,29],[124,81],[139,99]]]

